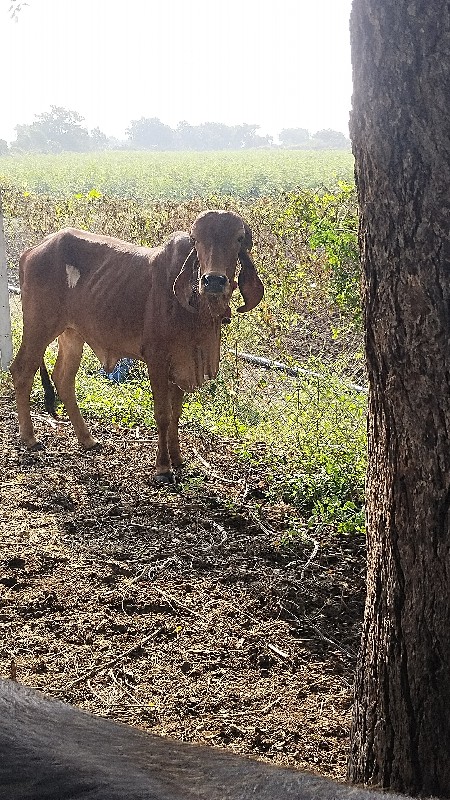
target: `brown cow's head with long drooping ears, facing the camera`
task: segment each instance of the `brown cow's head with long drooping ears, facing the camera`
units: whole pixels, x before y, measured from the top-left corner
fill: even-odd
[[[250,228],[233,211],[204,211],[191,228],[192,250],[175,280],[174,292],[189,311],[198,309],[197,298],[207,302],[214,317],[227,314],[230,297],[238,277],[244,305],[238,311],[250,311],[264,295],[264,286],[249,255],[252,247]]]

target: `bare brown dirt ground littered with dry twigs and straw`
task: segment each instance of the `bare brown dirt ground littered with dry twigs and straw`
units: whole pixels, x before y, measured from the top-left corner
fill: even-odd
[[[182,430],[177,492],[154,487],[152,430],[35,419],[0,398],[0,674],[89,709],[345,777],[363,613],[361,539],[286,536],[231,445]]]

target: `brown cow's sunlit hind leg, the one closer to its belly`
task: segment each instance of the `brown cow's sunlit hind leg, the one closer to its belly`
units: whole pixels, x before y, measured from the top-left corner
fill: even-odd
[[[64,403],[76,437],[85,450],[99,446],[87,427],[75,396],[75,377],[83,354],[84,340],[74,330],[67,329],[58,338],[58,357],[52,373],[60,400]]]

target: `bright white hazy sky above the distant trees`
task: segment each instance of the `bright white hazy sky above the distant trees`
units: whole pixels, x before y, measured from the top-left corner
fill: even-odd
[[[51,105],[132,119],[348,134],[351,0],[0,0],[0,138]]]

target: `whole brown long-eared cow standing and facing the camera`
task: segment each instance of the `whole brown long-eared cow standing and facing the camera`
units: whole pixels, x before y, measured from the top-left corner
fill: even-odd
[[[147,364],[158,429],[155,478],[173,483],[172,467],[182,463],[183,395],[217,374],[221,324],[229,315],[238,260],[245,301],[238,311],[250,311],[263,297],[251,246],[250,229],[238,214],[205,211],[190,235],[174,233],[161,247],[65,228],[23,253],[23,338],[11,374],[24,444],[41,447],[30,392],[46,347],[58,338],[53,381],[81,446],[98,446],[75,397],[87,342],[107,372],[122,357]]]

